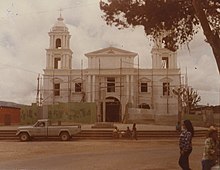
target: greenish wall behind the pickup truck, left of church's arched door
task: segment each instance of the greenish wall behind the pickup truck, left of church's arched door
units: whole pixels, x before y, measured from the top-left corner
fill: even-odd
[[[39,107],[35,104],[21,108],[21,123],[33,124],[38,119],[48,118],[53,121],[94,123],[96,122],[95,103],[59,103]],[[46,110],[46,115],[43,114]]]

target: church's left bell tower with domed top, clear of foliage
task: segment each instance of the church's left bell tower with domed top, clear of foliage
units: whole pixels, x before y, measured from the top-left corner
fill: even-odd
[[[68,28],[63,18],[57,18],[56,23],[48,33],[50,36],[49,48],[46,49],[46,69],[71,69],[72,50]]]

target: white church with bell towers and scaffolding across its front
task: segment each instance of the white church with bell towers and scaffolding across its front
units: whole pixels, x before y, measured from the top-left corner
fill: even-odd
[[[49,32],[43,74],[43,105],[94,102],[97,120],[121,122],[128,108],[153,115],[178,114],[178,98],[172,89],[181,85],[177,54],[154,46],[152,68],[135,65],[135,52],[107,47],[86,53],[87,68],[72,68],[74,53],[70,33],[59,17]]]

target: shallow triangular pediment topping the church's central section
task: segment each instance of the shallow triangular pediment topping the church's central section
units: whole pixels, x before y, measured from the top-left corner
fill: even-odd
[[[93,51],[90,53],[85,54],[87,57],[93,57],[93,56],[132,56],[135,57],[137,53],[126,51],[123,49],[115,48],[115,47],[108,47],[103,48],[101,50]]]

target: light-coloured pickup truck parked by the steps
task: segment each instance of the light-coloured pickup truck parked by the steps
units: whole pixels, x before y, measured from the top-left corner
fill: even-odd
[[[81,125],[51,125],[50,120],[40,119],[32,126],[18,127],[16,136],[22,142],[37,137],[59,137],[62,141],[68,141],[80,132]]]

